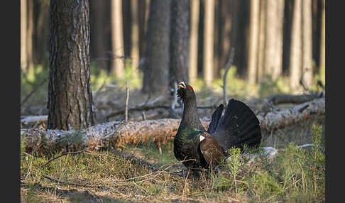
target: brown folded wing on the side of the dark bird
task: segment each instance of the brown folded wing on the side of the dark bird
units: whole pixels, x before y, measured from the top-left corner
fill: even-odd
[[[217,141],[209,133],[204,132],[202,136],[204,136],[204,140],[200,142],[200,150],[202,151],[202,155],[204,155],[204,159],[212,168],[220,165],[221,158],[224,157],[221,146],[219,146]]]

